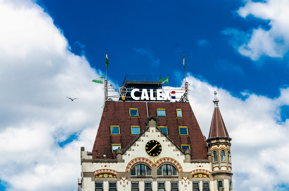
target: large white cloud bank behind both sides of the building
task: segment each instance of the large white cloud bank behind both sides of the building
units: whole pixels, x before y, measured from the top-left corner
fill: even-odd
[[[0,179],[11,191],[76,190],[80,146],[92,150],[101,117],[102,86],[91,82],[101,74],[69,51],[61,31],[35,3],[0,0],[0,26]],[[289,105],[289,89],[275,99],[243,93],[241,100],[192,76],[186,79],[205,136],[218,92],[233,138],[234,190],[288,184],[289,121],[277,121],[280,107]],[[58,146],[75,133],[76,140]]]

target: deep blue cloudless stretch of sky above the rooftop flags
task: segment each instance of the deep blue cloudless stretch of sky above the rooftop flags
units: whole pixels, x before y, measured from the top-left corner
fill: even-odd
[[[105,71],[120,84],[125,74],[169,75],[186,69],[212,85],[226,88],[236,96],[240,91],[271,98],[287,87],[288,56],[257,60],[241,55],[237,48],[248,42],[253,29],[270,30],[270,20],[237,11],[244,1],[56,1],[39,4],[63,30],[73,53],[85,55],[90,65]],[[143,68],[146,71],[143,71]]]

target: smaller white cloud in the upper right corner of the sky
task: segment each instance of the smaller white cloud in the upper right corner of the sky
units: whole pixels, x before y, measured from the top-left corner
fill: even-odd
[[[245,6],[238,10],[238,14],[246,18],[253,16],[268,20],[270,29],[255,26],[249,40],[241,37],[242,44],[238,44],[240,54],[258,60],[261,56],[283,57],[289,50],[289,1],[268,0],[266,2],[245,1]],[[248,19],[249,20],[249,19]],[[240,41],[238,40],[238,41]],[[236,44],[233,43],[234,46]]]

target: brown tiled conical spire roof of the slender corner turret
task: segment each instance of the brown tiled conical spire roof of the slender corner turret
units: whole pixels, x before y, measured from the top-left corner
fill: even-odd
[[[215,104],[214,113],[212,117],[211,128],[208,138],[213,137],[229,137],[223,117],[220,113],[218,104]]]

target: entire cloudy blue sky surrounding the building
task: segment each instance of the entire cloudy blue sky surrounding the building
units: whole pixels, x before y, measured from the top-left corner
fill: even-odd
[[[0,190],[76,190],[106,75],[169,76],[208,136],[214,91],[235,191],[289,190],[289,1],[0,0]],[[79,98],[69,100],[70,98]]]

